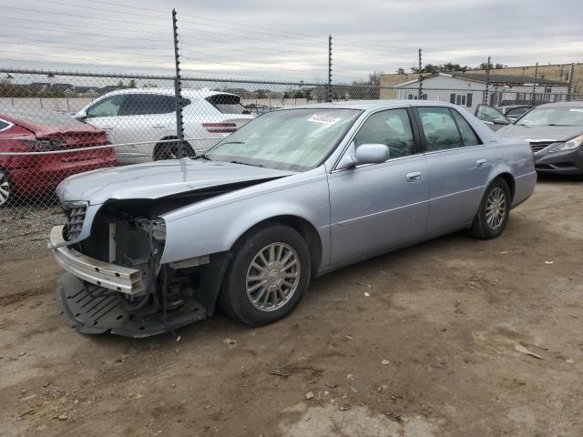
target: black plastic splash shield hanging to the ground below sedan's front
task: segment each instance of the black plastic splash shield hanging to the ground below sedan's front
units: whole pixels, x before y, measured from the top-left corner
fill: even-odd
[[[135,320],[126,308],[125,297],[103,287],[93,287],[72,274],[64,274],[56,286],[56,304],[66,325],[85,334],[112,334],[148,337],[178,329],[206,318],[206,311],[196,300],[189,300],[179,310],[156,314],[147,320]]]

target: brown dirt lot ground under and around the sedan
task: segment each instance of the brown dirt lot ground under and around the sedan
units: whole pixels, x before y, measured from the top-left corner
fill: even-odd
[[[314,280],[287,320],[178,342],[78,334],[53,260],[5,252],[0,434],[583,435],[582,217],[582,182],[543,180],[499,239],[401,250]]]

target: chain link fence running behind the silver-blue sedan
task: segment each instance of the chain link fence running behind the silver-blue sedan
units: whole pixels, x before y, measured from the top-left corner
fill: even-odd
[[[420,89],[201,77],[182,77],[177,98],[175,76],[16,69],[0,74],[0,243],[9,249],[19,247],[18,237],[26,244],[36,234],[44,239],[50,225],[62,222],[55,189],[63,179],[194,157],[267,111],[330,99],[421,98],[481,111],[487,121],[490,116],[479,105],[503,111],[517,106],[521,114],[542,103],[583,99],[531,88]]]

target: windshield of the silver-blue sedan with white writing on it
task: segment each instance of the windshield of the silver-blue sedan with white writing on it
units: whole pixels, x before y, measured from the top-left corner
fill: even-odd
[[[362,111],[288,109],[251,120],[204,156],[216,161],[305,171],[318,166]]]

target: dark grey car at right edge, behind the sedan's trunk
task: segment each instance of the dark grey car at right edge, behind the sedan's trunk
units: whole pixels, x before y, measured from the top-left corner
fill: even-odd
[[[583,102],[535,107],[497,134],[525,139],[539,173],[583,174]]]

